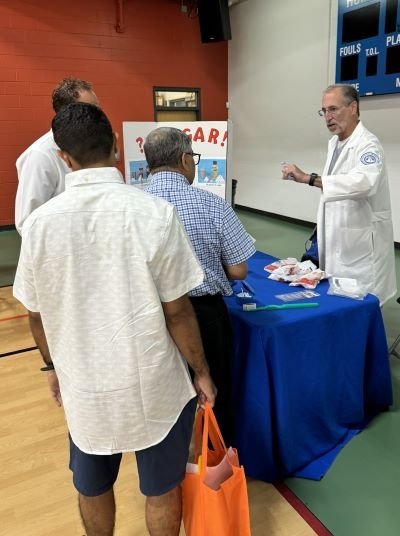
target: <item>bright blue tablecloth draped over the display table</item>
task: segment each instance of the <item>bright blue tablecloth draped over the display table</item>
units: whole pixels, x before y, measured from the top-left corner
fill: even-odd
[[[304,290],[268,279],[276,260],[257,252],[247,281],[257,302]],[[385,329],[378,300],[316,291],[315,309],[244,312],[226,298],[232,353],[236,442],[246,474],[272,482],[320,479],[340,448],[392,403]],[[301,302],[293,302],[301,303]]]

